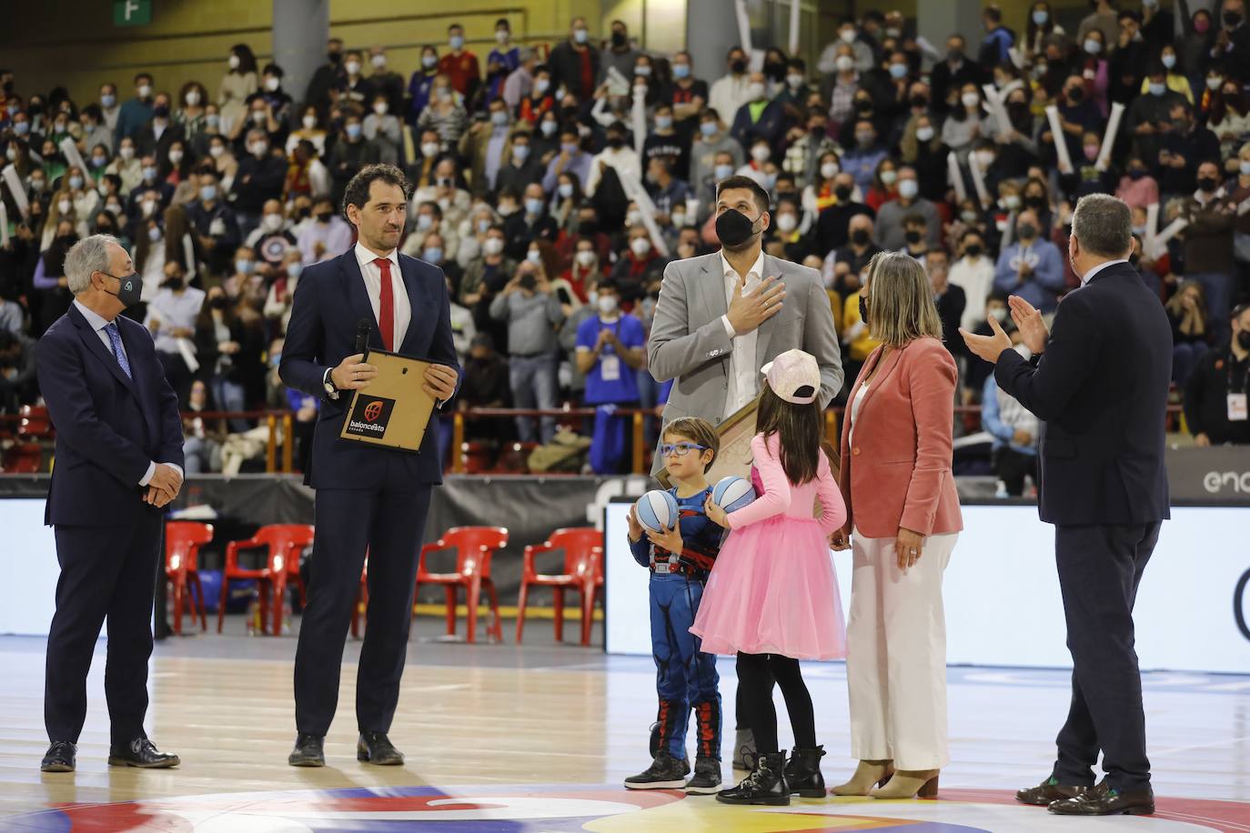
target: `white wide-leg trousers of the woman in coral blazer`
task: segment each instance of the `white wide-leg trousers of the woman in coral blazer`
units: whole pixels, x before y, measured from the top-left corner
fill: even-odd
[[[958,538],[929,536],[904,572],[894,538],[851,536],[846,684],[858,761],[894,761],[895,769],[941,769],[950,761],[941,578]]]

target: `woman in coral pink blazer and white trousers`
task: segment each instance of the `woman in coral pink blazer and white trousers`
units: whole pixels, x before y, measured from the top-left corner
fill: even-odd
[[[860,763],[834,793],[932,797],[950,759],[941,578],[964,526],[950,468],[959,371],[924,267],[880,254],[869,270],[861,312],[882,343],[842,421],[846,525],[831,538],[854,550],[846,681]]]

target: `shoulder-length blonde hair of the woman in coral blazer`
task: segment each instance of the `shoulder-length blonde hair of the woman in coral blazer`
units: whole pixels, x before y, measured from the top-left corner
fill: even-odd
[[[901,252],[872,255],[864,288],[868,326],[874,338],[891,347],[905,347],[925,336],[941,341],[932,286],[925,267],[914,257]]]

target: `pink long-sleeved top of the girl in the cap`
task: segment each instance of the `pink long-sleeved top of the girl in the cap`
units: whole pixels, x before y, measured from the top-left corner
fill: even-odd
[[[751,440],[755,473],[759,475],[755,491],[760,492],[762,487],[762,493],[752,503],[736,512],[730,512],[728,516],[729,528],[736,530],[776,515],[810,521],[816,498],[820,500],[820,516],[816,517],[816,522],[820,523],[820,528],[826,536],[846,523],[846,505],[842,502],[842,493],[839,491],[838,481],[829,467],[829,457],[824,452],[820,453],[816,480],[795,485],[790,482],[785,470],[781,468],[780,448],[781,438],[775,433],[768,437],[758,433]]]

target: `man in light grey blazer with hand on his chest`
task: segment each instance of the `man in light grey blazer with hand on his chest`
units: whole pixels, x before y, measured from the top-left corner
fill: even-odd
[[[760,367],[792,348],[820,365],[821,407],[842,387],[838,332],[820,274],[762,254],[768,207],[769,195],[754,180],[722,180],[716,234],[724,249],[664,270],[646,343],[651,376],[676,380],[664,425],[682,416],[719,425],[759,393]],[[656,453],[651,473],[662,467]]]

